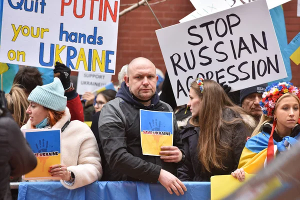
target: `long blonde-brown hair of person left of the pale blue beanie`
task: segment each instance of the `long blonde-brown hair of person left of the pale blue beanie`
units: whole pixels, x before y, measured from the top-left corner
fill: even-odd
[[[22,127],[29,119],[26,114],[26,109],[29,105],[27,97],[20,84],[13,84],[10,92],[5,94],[7,109],[19,127]]]

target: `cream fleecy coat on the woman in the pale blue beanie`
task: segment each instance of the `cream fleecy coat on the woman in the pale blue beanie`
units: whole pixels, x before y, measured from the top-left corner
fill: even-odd
[[[64,115],[52,128],[62,128],[70,117],[69,109],[66,107]],[[31,121],[28,120],[21,129],[30,127]],[[75,175],[71,186],[60,180],[68,189],[75,189],[100,180],[102,166],[98,145],[92,131],[85,123],[78,120],[71,121],[61,132],[61,161]]]

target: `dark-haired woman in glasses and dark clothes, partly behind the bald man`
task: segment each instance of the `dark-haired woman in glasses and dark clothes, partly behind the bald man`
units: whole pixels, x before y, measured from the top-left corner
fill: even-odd
[[[100,91],[98,93],[96,100],[94,102],[94,108],[95,108],[96,112],[92,116],[92,122],[91,122],[91,126],[90,126],[90,129],[93,132],[93,134],[97,140],[98,147],[99,147],[99,152],[100,152],[102,166],[103,166],[103,176],[102,176],[101,180],[103,180],[103,181],[108,180],[108,177],[106,177],[107,174],[105,173],[105,167],[104,167],[107,162],[106,162],[104,152],[102,149],[102,145],[100,142],[100,138],[99,138],[98,122],[99,122],[99,120],[101,120],[99,117],[100,117],[100,111],[101,111],[103,105],[105,103],[107,103],[108,101],[114,99],[115,94],[116,94],[116,91],[114,91],[112,89],[106,89],[106,90]]]

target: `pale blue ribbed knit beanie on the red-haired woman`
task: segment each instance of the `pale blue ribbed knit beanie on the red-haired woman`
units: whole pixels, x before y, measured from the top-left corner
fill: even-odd
[[[35,102],[55,111],[63,111],[66,107],[64,89],[59,80],[55,77],[53,82],[42,86],[36,86],[28,96],[28,101]]]

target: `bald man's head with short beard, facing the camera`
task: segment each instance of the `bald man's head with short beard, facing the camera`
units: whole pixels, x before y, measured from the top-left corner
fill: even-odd
[[[156,68],[147,58],[134,58],[128,65],[124,79],[132,94],[140,100],[149,100],[156,91]]]

